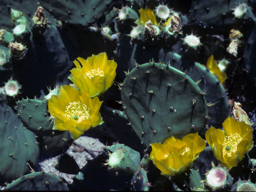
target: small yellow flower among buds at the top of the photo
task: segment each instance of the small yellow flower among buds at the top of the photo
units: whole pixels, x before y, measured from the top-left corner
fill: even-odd
[[[136,20],[134,23],[137,25],[145,25],[146,22],[151,20],[152,24],[155,26],[158,26],[158,22],[156,21],[156,16],[154,15],[154,12],[150,8],[142,9],[140,8],[139,10],[140,13],[140,18]]]

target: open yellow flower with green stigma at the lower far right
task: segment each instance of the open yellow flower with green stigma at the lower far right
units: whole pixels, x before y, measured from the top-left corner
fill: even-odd
[[[244,154],[253,147],[252,128],[245,122],[238,122],[228,117],[222,123],[224,132],[221,129],[210,127],[205,138],[216,159],[227,169],[237,166],[243,159]]]

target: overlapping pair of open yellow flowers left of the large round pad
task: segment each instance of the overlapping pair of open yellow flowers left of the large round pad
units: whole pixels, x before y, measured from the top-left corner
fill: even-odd
[[[106,53],[86,60],[79,57],[78,61],[74,61],[76,68],[70,70],[69,76],[76,88],[61,86],[58,96],[52,95],[48,101],[49,112],[55,117],[53,129],[69,130],[74,140],[90,127],[103,123],[99,112],[102,101],[98,97],[114,83],[117,67]]]

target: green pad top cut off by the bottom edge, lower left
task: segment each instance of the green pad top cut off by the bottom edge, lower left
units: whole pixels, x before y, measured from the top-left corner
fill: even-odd
[[[69,191],[67,184],[62,181],[60,176],[48,174],[43,170],[22,175],[14,182],[8,184],[5,190]]]

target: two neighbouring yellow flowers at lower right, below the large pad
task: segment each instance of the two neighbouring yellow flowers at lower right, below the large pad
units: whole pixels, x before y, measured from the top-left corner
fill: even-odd
[[[253,147],[252,128],[245,122],[228,117],[223,130],[209,128],[205,137],[222,166],[231,169],[243,159]],[[193,162],[204,150],[206,142],[198,133],[188,134],[182,140],[173,137],[163,144],[151,144],[150,159],[164,176],[179,176],[193,167]]]

